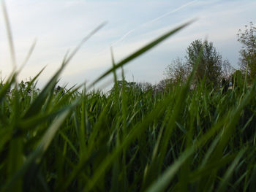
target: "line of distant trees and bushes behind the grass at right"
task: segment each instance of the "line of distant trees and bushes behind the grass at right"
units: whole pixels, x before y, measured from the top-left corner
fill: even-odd
[[[165,91],[172,85],[178,85],[187,80],[195,63],[198,63],[195,78],[192,86],[196,87],[205,82],[211,88],[218,88],[229,85],[241,86],[241,82],[252,84],[256,75],[256,27],[253,23],[239,30],[238,42],[242,47],[239,51],[238,69],[230,64],[230,61],[223,59],[222,55],[214,47],[213,42],[196,39],[187,47],[184,58],[175,58],[165,68],[165,79],[157,85],[150,82],[125,82],[127,88],[140,88],[143,91],[154,90]],[[236,83],[235,83],[236,82]],[[121,81],[119,82],[121,85]]]

